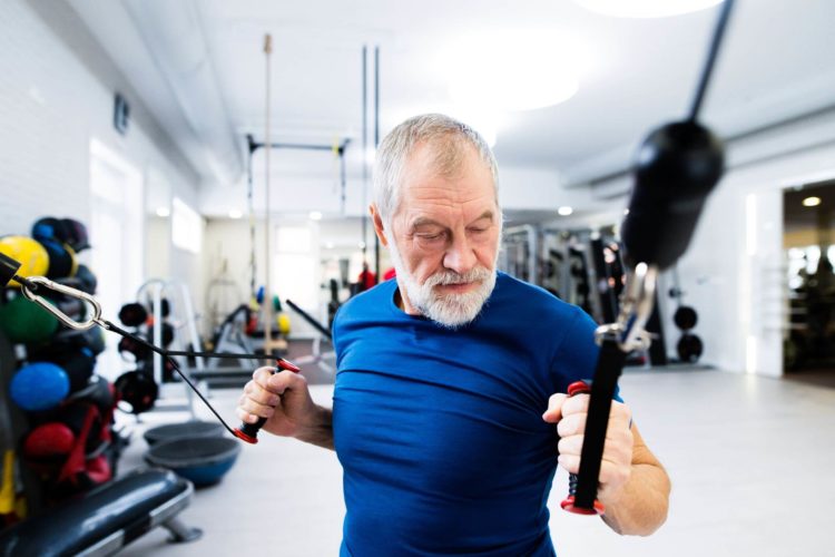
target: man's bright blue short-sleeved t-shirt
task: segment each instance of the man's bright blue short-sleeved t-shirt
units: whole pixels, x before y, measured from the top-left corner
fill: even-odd
[[[455,331],[404,313],[396,290],[382,283],[334,321],[341,555],[553,555],[557,431],[542,412],[593,374],[597,325],[503,273]]]

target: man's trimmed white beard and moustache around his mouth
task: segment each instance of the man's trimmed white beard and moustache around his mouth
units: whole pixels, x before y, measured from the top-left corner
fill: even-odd
[[[495,262],[492,270],[479,265],[464,274],[439,271],[421,284],[406,270],[393,241],[389,243],[389,253],[397,273],[397,286],[409,297],[412,306],[421,315],[448,329],[458,329],[474,320],[495,286]],[[434,286],[439,284],[470,282],[479,282],[479,285],[463,294],[438,294],[434,291]]]

